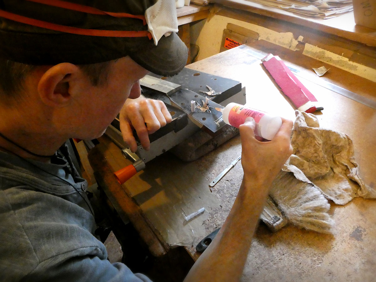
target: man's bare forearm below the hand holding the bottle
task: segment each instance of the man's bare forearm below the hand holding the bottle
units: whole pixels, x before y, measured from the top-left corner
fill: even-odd
[[[243,180],[225,223],[184,281],[240,279],[267,191]]]

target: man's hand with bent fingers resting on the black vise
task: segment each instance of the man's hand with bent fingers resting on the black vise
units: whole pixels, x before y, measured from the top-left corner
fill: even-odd
[[[149,134],[170,123],[172,118],[162,101],[140,96],[136,99],[126,100],[120,111],[119,120],[124,142],[134,153],[137,150],[137,143],[133,136],[133,129],[136,130],[144,149],[149,150]]]

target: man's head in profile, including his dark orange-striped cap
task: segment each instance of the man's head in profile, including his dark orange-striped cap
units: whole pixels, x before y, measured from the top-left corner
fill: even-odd
[[[29,100],[23,100],[18,120],[29,115],[35,124],[48,122],[60,132],[86,130],[85,136],[69,136],[85,139],[105,129],[129,95],[139,95],[138,79],[147,71],[178,73],[187,49],[174,31],[172,0],[69,1],[0,0],[0,66],[8,71],[0,71],[0,92],[22,95],[27,88]],[[9,77],[13,86],[7,85]]]

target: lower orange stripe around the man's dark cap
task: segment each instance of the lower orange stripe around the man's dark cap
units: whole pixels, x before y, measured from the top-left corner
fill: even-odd
[[[130,30],[102,30],[102,29],[82,29],[79,27],[63,26],[61,24],[49,23],[47,21],[35,20],[32,18],[23,17],[20,15],[12,14],[3,10],[0,10],[0,17],[7,18],[8,20],[17,21],[19,23],[29,24],[31,26],[42,27],[45,29],[73,33],[78,35],[89,36],[103,36],[103,37],[144,37],[149,39],[152,35],[147,30],[130,31]]]

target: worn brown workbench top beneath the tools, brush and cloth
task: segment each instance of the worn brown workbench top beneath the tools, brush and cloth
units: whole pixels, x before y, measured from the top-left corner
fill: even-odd
[[[327,78],[318,80],[309,68],[319,67],[320,62],[313,59],[294,57],[293,52],[276,53],[285,63],[300,72],[302,83],[317,97],[324,111],[316,115],[320,126],[346,133],[353,140],[355,159],[359,164],[360,176],[364,182],[375,186],[373,161],[376,150],[376,110],[362,103],[344,97],[327,88],[336,79],[341,85],[349,83],[354,90],[358,86],[367,103],[375,103],[375,83],[362,80],[341,70],[332,68]],[[257,58],[258,54],[250,46],[243,45],[228,50],[205,60],[188,65],[197,71],[216,74],[238,80],[246,87],[247,103],[253,108],[273,112],[291,120],[295,119],[294,108],[271,81]],[[262,54],[261,54],[262,55]],[[315,64],[315,65],[314,65]],[[304,77],[304,78],[303,78]],[[338,78],[340,77],[340,78]],[[316,84],[312,81],[317,81]],[[328,84],[329,83],[329,84]],[[325,86],[321,86],[321,85]],[[121,156],[120,150],[106,137],[100,139],[102,144],[91,152],[89,158],[98,158],[108,162],[111,173],[129,164]],[[233,159],[241,153],[239,136],[221,145],[217,149],[193,162],[182,162],[169,152],[147,163],[144,171],[122,185],[120,190],[109,196],[119,214],[127,213],[122,208],[126,195],[133,197],[135,213],[128,216],[134,224],[137,220],[146,223],[147,235],[143,237],[148,246],[156,247],[156,254],[168,250],[171,242],[186,243],[190,241],[187,234],[193,234],[193,247],[187,246],[193,258],[194,246],[203,236],[220,227],[237,195],[242,179],[240,162],[211,190],[209,182],[217,176]],[[262,163],[260,163],[262,166]],[[94,165],[94,170],[96,167]],[[114,181],[110,175],[104,185]],[[110,193],[107,191],[106,193]],[[125,195],[125,196],[124,196]],[[252,205],[252,203],[249,203]],[[184,222],[182,210],[187,214],[205,207],[204,214],[192,222]],[[245,281],[372,281],[376,265],[376,201],[356,198],[344,206],[331,203],[330,214],[335,221],[334,234],[321,234],[285,226],[276,233],[270,232],[260,224],[255,233],[249,251],[243,279]],[[142,224],[141,224],[142,225]],[[188,231],[187,231],[188,230]],[[155,237],[149,232],[155,233]],[[146,239],[145,239],[146,238]],[[159,242],[155,243],[156,240]],[[162,241],[162,243],[161,243]],[[185,242],[186,241],[186,242]],[[166,242],[168,244],[166,244]],[[164,249],[164,250],[163,250]]]

